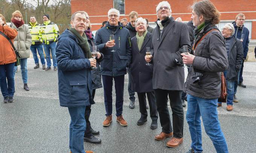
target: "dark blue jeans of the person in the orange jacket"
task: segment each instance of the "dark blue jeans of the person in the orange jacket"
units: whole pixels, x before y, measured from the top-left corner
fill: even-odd
[[[0,88],[3,97],[13,97],[15,87],[14,87],[14,75],[13,75],[13,69],[14,69],[14,63],[9,63],[5,65],[0,65]],[[7,83],[6,83],[7,78]],[[7,86],[8,85],[8,86]]]

